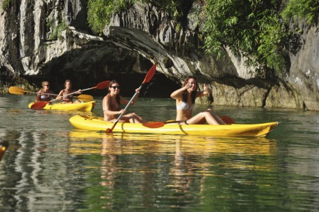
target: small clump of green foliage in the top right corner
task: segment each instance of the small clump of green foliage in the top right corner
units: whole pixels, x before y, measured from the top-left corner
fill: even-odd
[[[319,18],[318,0],[290,0],[281,13],[285,20],[305,18],[308,25],[317,25]]]

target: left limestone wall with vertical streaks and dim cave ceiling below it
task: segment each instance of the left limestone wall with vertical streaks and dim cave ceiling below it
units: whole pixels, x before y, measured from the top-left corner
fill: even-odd
[[[92,34],[86,17],[86,1],[23,0],[0,8],[0,92],[10,85],[32,90],[43,80],[55,85],[55,92],[66,79],[75,88],[89,88],[152,65],[137,51]],[[61,23],[67,27],[52,38],[57,27],[49,25]]]

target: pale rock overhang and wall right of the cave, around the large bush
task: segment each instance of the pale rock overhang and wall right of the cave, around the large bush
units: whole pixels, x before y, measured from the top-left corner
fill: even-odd
[[[291,55],[290,70],[269,81],[256,77],[256,67],[244,66],[245,59],[236,57],[227,47],[225,57],[218,61],[201,51],[203,44],[196,33],[196,29],[201,29],[201,25],[196,25],[200,23],[196,19],[199,10],[199,5],[192,4],[188,8],[188,27],[177,31],[175,23],[167,21],[164,13],[151,5],[137,4],[128,12],[116,14],[105,28],[105,35],[159,64],[159,71],[170,79],[182,82],[194,75],[201,86],[209,83],[215,105],[319,109],[316,27],[301,35],[303,43],[298,53]]]

